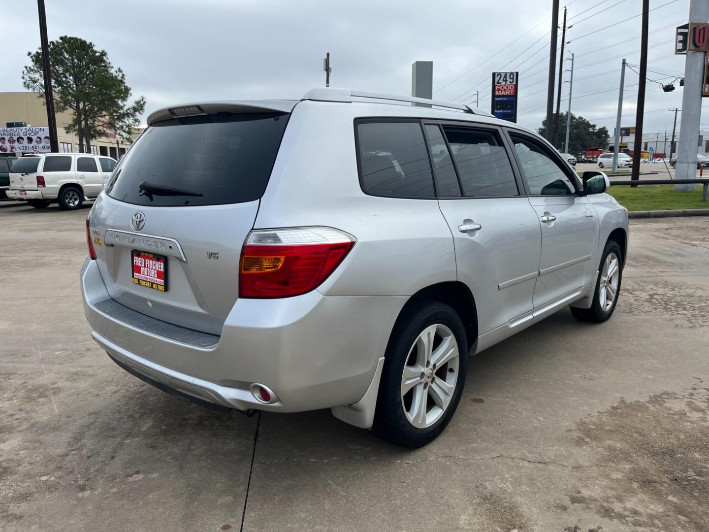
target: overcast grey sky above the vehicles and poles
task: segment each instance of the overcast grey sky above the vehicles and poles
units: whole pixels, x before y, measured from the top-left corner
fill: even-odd
[[[687,21],[688,5],[650,1],[650,79],[668,83],[682,75],[674,27]],[[641,1],[571,0],[566,6],[573,24],[566,50],[576,54],[571,112],[612,132],[621,60],[640,62]],[[551,7],[551,0],[47,0],[47,18],[50,40],[74,35],[106,50],[133,94],[147,99],[146,116],[186,101],[300,98],[324,86],[329,51],[333,87],[411,94],[411,63],[430,60],[435,99],[474,104],[476,87],[484,109],[491,72],[518,70],[518,122],[537,128],[545,116]],[[563,7],[562,0],[562,14]],[[37,6],[3,0],[2,13],[0,91],[21,91],[26,52],[39,46]],[[623,126],[635,124],[637,81],[628,70]],[[660,132],[662,138],[671,130],[667,109],[682,104],[675,86],[665,93],[647,83],[647,136]],[[565,83],[563,111],[568,93]]]

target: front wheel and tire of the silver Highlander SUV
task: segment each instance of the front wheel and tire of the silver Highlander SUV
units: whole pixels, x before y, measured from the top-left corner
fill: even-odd
[[[613,316],[618,304],[620,282],[623,280],[623,253],[615,240],[605,243],[601,265],[598,267],[596,290],[593,292],[593,304],[590,309],[571,307],[571,314],[581,321],[603,323]]]

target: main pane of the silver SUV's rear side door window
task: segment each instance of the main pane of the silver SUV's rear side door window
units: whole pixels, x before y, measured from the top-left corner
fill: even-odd
[[[517,183],[505,147],[496,133],[443,126],[463,195],[517,196]]]

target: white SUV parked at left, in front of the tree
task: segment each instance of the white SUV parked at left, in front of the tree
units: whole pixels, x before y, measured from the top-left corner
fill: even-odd
[[[52,201],[62,209],[79,209],[99,195],[114,167],[115,159],[91,153],[21,157],[12,166],[7,196],[35,209],[45,209]]]

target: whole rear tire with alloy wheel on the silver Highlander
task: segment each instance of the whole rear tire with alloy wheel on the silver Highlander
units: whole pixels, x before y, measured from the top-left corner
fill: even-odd
[[[413,304],[397,319],[386,347],[374,434],[408,448],[435,440],[455,413],[467,367],[458,314],[437,301]]]

